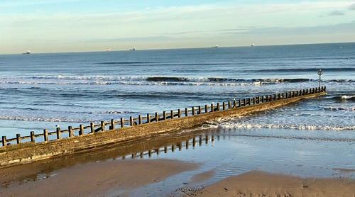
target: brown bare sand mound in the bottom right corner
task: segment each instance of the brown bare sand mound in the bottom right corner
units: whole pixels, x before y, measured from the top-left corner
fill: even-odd
[[[302,179],[249,171],[231,176],[186,196],[355,196],[351,179]]]

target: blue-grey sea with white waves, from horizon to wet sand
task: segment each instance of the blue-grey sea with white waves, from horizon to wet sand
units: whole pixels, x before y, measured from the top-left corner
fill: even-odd
[[[211,127],[354,140],[355,43],[0,55],[0,135],[311,88],[318,69],[327,96]]]

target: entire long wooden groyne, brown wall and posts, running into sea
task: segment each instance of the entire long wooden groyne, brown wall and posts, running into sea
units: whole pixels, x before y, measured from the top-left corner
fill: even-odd
[[[91,150],[95,147],[110,145],[117,142],[139,140],[158,133],[174,130],[195,128],[209,120],[244,116],[248,113],[266,111],[271,108],[285,106],[288,103],[300,101],[326,94],[326,87],[287,91],[265,96],[256,96],[247,99],[234,99],[222,103],[211,103],[204,106],[192,106],[178,110],[163,111],[163,113],[139,115],[130,117],[129,120],[101,121],[99,124],[90,123],[80,125],[79,128],[54,131],[43,130],[35,134],[31,131],[28,136],[8,139],[1,137],[0,168],[13,164],[24,164],[40,159],[58,157]],[[41,139],[41,140],[40,140]],[[40,140],[39,142],[36,142]]]

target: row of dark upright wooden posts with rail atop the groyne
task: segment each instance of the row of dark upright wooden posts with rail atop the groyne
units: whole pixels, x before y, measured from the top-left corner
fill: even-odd
[[[271,94],[266,96],[256,96],[248,99],[239,99],[239,100],[234,99],[233,101],[223,102],[222,105],[220,105],[219,103],[217,104],[211,103],[210,105],[204,105],[204,106],[192,106],[190,108],[185,108],[183,110],[181,109],[178,109],[177,111],[171,110],[170,113],[166,113],[165,111],[163,111],[163,114],[155,112],[153,116],[151,116],[151,114],[148,113],[144,117],[139,115],[138,118],[133,118],[131,116],[129,120],[125,120],[124,118],[121,118],[119,120],[111,119],[109,122],[101,121],[99,124],[90,123],[87,126],[80,125],[79,128],[72,128],[72,126],[69,126],[67,130],[61,130],[60,128],[56,128],[55,131],[49,132],[47,129],[44,129],[43,133],[38,133],[38,134],[35,134],[34,131],[31,131],[30,135],[28,136],[21,136],[20,134],[16,134],[16,137],[10,139],[7,139],[6,136],[2,136],[0,142],[1,145],[4,147],[11,145],[11,142],[16,142],[16,144],[21,144],[23,140],[30,140],[27,142],[35,143],[36,137],[43,137],[43,141],[48,142],[50,141],[49,139],[50,135],[55,135],[55,139],[53,140],[59,140],[65,138],[62,137],[63,133],[67,133],[67,137],[74,137],[75,131],[78,132],[78,135],[90,135],[97,132],[104,132],[105,130],[107,130],[106,128],[107,125],[109,125],[109,130],[116,129],[116,125],[119,125],[120,128],[124,128],[126,126],[134,127],[136,125],[157,123],[159,121],[164,121],[173,118],[182,118],[186,116],[200,115],[203,113],[217,112],[217,111],[221,111],[221,106],[222,106],[222,111],[225,111],[231,108],[256,105],[259,103],[289,99],[289,98],[308,95],[308,94],[317,94],[324,91],[326,91],[326,86],[320,86],[312,89],[303,89],[300,91],[288,91],[288,92]],[[184,114],[185,116],[182,116],[182,114]],[[85,133],[85,131],[87,131],[87,133]]]

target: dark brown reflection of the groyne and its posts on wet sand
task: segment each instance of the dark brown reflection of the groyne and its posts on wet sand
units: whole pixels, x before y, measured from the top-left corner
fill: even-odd
[[[89,162],[99,162],[108,159],[150,158],[154,154],[188,150],[191,146],[202,146],[214,143],[214,135],[219,140],[217,130],[194,130],[183,133],[165,133],[147,139],[126,142],[109,147],[100,147],[91,152],[81,152],[66,157],[56,157],[31,164],[1,169],[0,186],[9,187],[55,176],[53,171]]]

